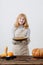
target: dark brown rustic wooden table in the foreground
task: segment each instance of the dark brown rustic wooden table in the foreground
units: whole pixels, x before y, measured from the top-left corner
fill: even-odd
[[[0,58],[0,65],[43,65],[43,58],[33,58],[32,56],[16,56],[10,60]]]

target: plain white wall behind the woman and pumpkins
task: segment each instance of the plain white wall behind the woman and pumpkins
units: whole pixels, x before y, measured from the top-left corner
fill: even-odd
[[[13,24],[20,13],[30,25],[30,54],[33,48],[43,48],[43,0],[0,0],[0,53],[6,46],[12,51]]]

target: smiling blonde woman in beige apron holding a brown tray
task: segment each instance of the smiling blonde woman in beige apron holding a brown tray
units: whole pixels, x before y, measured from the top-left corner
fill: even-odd
[[[23,13],[18,15],[14,24],[14,38],[26,38],[22,41],[13,40],[14,55],[29,55],[30,29],[26,15]]]

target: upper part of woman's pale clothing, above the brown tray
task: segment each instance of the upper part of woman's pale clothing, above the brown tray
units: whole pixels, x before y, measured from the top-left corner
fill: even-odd
[[[19,26],[18,28],[14,27],[14,37],[30,38],[30,29],[25,29],[23,26]]]

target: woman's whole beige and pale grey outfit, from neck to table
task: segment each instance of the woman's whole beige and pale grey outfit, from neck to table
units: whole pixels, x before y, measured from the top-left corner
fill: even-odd
[[[27,37],[30,39],[30,29],[25,29],[23,26],[19,26],[18,28],[14,27],[14,37]],[[15,45],[15,43],[20,43]],[[29,55],[28,49],[28,41],[13,41],[13,52],[15,55]]]

